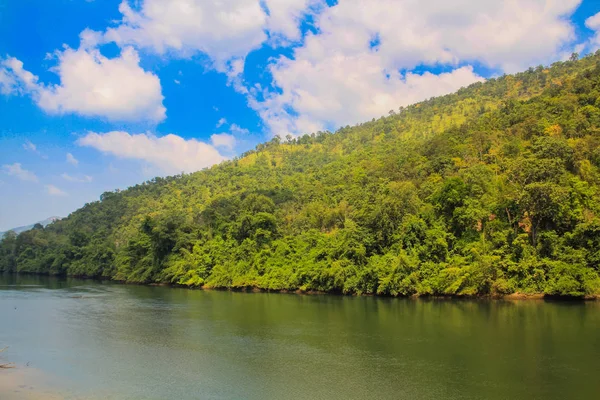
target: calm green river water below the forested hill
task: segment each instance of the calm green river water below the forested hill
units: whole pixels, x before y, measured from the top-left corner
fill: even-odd
[[[47,374],[65,398],[600,398],[598,302],[0,277],[4,346],[4,361]]]

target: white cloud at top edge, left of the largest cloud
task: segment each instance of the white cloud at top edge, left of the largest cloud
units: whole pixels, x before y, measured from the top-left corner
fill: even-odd
[[[159,54],[202,52],[224,71],[269,35],[298,40],[302,16],[322,5],[323,0],[142,0],[134,9],[123,0],[122,20],[103,40]]]

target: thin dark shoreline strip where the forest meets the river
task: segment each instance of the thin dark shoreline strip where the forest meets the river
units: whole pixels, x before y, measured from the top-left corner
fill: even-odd
[[[269,290],[263,289],[257,286],[249,286],[249,287],[239,287],[239,288],[228,288],[228,287],[206,287],[206,286],[186,286],[179,285],[176,283],[168,283],[168,282],[127,282],[115,279],[107,279],[107,278],[98,278],[98,277],[90,277],[90,276],[77,276],[77,275],[51,275],[51,274],[42,274],[42,273],[31,273],[31,272],[4,272],[5,275],[28,275],[28,276],[46,276],[53,278],[74,278],[81,280],[91,280],[97,282],[111,282],[117,283],[121,285],[137,285],[137,286],[155,286],[155,287],[169,287],[173,289],[188,289],[188,290],[215,290],[215,291],[223,291],[223,292],[239,292],[239,293],[279,293],[279,294],[295,294],[295,295],[304,295],[304,296],[313,296],[313,295],[328,295],[328,296],[347,296],[347,297],[379,297],[379,298],[392,298],[392,299],[422,299],[422,300],[543,300],[543,301],[599,301],[600,294],[598,295],[584,295],[584,296],[557,296],[557,295],[547,295],[544,293],[509,293],[509,294],[480,294],[480,295],[400,295],[400,296],[389,296],[389,295],[379,295],[375,293],[342,293],[342,292],[327,292],[327,291],[319,291],[319,290],[301,290],[301,289],[279,289],[279,290]]]

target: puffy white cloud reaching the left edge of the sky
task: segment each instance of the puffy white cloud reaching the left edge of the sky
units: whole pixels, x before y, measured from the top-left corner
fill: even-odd
[[[158,77],[139,66],[139,56],[131,47],[115,58],[87,48],[85,35],[78,50],[57,52],[58,65],[52,69],[59,85],[38,83],[38,77],[23,69],[16,58],[2,61],[2,93],[29,93],[51,114],[76,113],[117,121],[160,122],[165,107]],[[6,78],[8,77],[8,79]]]

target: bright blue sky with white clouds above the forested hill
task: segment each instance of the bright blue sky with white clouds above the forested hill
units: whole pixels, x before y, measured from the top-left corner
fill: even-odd
[[[0,231],[599,47],[593,0],[0,0]]]

